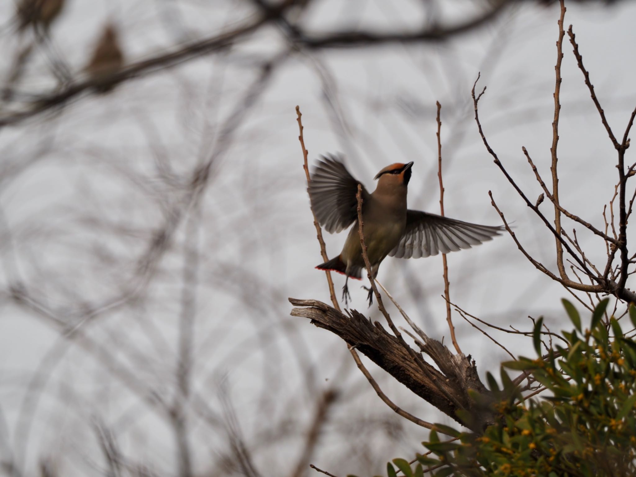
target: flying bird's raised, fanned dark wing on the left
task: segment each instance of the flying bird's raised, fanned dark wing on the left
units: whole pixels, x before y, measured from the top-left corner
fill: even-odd
[[[340,232],[357,219],[357,184],[339,156],[321,156],[307,191],[314,214],[327,232]],[[369,197],[363,186],[363,204]]]

